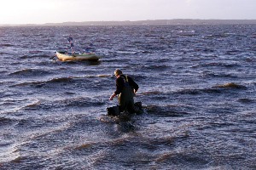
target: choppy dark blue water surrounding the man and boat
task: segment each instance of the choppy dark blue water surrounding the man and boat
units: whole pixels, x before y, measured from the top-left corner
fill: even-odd
[[[0,169],[256,169],[256,26],[0,27]],[[56,49],[92,42],[97,62]],[[120,68],[144,113],[106,116]]]

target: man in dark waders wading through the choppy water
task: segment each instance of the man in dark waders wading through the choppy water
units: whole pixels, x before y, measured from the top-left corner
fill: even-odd
[[[123,75],[123,72],[119,69],[114,71],[114,75],[117,77],[115,80],[116,90],[109,99],[113,100],[113,97],[117,95],[122,110],[131,113],[139,111],[139,109],[134,106],[133,100],[133,96],[139,88],[137,83],[134,82],[131,77]]]

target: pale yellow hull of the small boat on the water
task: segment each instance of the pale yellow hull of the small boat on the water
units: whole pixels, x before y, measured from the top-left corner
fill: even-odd
[[[98,60],[103,56],[102,53],[89,53],[89,54],[62,54],[56,51],[56,56],[60,60]]]

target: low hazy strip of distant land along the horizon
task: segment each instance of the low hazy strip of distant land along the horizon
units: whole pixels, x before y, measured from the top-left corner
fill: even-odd
[[[0,25],[0,26],[154,26],[154,25],[255,25],[256,20],[137,20],[137,21],[85,21],[85,22],[62,22],[27,25]]]

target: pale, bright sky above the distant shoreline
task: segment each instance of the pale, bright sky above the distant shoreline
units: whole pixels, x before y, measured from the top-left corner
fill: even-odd
[[[102,20],[256,20],[256,0],[0,1],[0,25]]]

